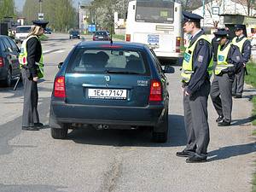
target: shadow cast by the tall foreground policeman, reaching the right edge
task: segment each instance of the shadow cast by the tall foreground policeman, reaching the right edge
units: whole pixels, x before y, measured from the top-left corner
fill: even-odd
[[[244,154],[251,154],[256,151],[256,143],[247,143],[241,145],[227,146],[218,148],[208,154],[208,160],[224,160],[230,157],[236,157]]]

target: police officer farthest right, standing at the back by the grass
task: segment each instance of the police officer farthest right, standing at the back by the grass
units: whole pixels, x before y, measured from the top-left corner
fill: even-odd
[[[241,70],[235,75],[235,80],[232,87],[232,95],[235,98],[241,98],[246,63],[250,60],[251,57],[251,43],[244,34],[245,27],[243,25],[236,25],[235,30],[236,38],[233,38],[232,43],[239,47],[244,63],[243,67],[241,67]]]

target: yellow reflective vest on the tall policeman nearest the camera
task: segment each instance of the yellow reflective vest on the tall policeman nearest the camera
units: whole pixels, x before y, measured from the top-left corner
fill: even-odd
[[[191,79],[191,75],[194,73],[192,61],[193,61],[193,56],[195,51],[195,45],[201,39],[205,39],[207,42],[211,44],[211,42],[209,41],[206,35],[201,35],[199,38],[196,39],[194,44],[192,44],[190,47],[187,47],[187,49],[184,52],[183,67],[182,67],[182,73],[181,73],[183,83],[189,83],[189,80]],[[212,75],[212,66],[213,66],[213,60],[210,61],[207,69],[210,76]]]

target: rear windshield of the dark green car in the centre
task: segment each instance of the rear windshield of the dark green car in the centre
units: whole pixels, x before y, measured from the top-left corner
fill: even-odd
[[[67,73],[125,73],[148,75],[142,51],[127,49],[75,49]]]

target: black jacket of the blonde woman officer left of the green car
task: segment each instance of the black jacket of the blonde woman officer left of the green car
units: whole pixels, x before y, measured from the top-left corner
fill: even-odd
[[[31,77],[38,77],[36,62],[40,61],[42,55],[42,47],[38,38],[30,38],[26,42],[26,52],[27,52],[27,67]]]

